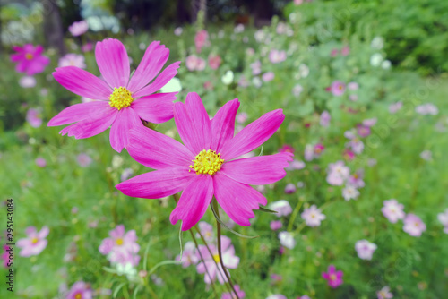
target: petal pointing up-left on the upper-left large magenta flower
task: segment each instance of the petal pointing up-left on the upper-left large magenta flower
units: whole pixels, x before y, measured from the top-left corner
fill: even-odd
[[[73,93],[92,99],[108,99],[112,90],[105,81],[76,66],[56,68],[56,81]]]

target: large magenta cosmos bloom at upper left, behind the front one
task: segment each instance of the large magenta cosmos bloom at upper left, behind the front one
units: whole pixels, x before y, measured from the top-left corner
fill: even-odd
[[[108,38],[98,42],[95,56],[104,81],[75,66],[56,68],[53,75],[67,90],[98,101],[67,107],[48,126],[75,123],[65,127],[61,134],[81,139],[104,132],[112,125],[110,145],[121,152],[127,145],[128,131],[143,126],[141,119],[159,124],[173,117],[177,92],[153,93],[176,75],[180,62],[170,64],[157,76],[168,60],[169,50],[154,41],[129,79],[129,57],[119,40]]]

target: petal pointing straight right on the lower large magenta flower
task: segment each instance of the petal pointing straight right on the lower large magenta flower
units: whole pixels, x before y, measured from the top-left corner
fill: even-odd
[[[285,175],[285,167],[292,161],[291,153],[278,153],[271,156],[240,158],[226,162],[221,172],[243,184],[272,184]]]

